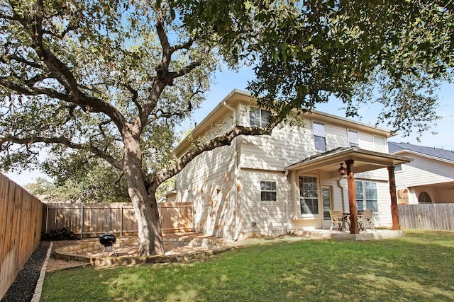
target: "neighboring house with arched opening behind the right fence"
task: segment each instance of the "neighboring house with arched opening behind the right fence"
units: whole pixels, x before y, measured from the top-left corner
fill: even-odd
[[[454,152],[389,141],[389,153],[414,161],[395,169],[399,204],[454,203]]]

